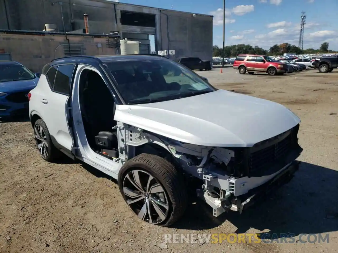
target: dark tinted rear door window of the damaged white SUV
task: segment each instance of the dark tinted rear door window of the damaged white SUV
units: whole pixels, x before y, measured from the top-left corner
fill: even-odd
[[[70,95],[75,64],[59,65],[55,75],[53,90],[58,93]]]

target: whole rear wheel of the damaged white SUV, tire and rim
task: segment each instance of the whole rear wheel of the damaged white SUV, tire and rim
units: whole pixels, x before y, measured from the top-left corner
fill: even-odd
[[[53,162],[59,157],[59,151],[53,145],[46,123],[42,119],[35,121],[34,138],[39,153],[44,160]]]

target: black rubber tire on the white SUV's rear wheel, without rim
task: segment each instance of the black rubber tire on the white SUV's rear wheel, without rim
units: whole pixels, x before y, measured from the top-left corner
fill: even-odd
[[[41,150],[39,149],[39,140],[37,138],[37,131],[38,127],[41,127],[41,129],[43,130],[43,142],[47,143],[47,156],[44,156],[41,152]],[[43,121],[42,119],[38,119],[37,121],[35,121],[34,124],[34,138],[35,138],[35,143],[37,144],[37,148],[39,150],[40,156],[47,162],[55,162],[58,158],[60,158],[61,152],[53,145],[52,140],[50,138],[50,134],[47,128],[47,125],[45,123],[45,121]],[[42,142],[41,142],[42,143]],[[45,145],[45,143],[44,143]],[[46,145],[45,145],[46,146]]]

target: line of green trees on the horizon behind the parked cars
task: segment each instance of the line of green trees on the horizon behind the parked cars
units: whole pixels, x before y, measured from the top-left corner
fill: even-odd
[[[329,50],[329,43],[324,42],[319,49],[308,48],[301,50],[295,45],[289,43],[275,44],[269,50],[265,50],[259,46],[251,46],[238,44],[224,47],[224,57],[236,57],[239,54],[257,54],[257,55],[283,55],[284,53],[292,54],[316,54],[316,53],[333,53]],[[213,46],[213,56],[222,57],[222,48]]]

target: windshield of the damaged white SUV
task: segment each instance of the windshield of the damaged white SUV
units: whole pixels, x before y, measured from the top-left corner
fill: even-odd
[[[215,89],[172,60],[140,59],[107,62],[126,104],[142,104],[194,96]]]

